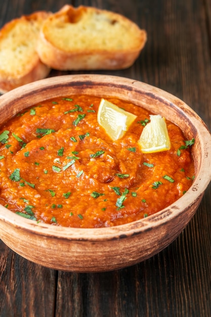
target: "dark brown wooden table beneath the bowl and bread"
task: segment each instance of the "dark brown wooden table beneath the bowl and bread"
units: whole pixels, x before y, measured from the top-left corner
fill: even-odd
[[[134,78],[170,92],[211,128],[210,0],[1,0],[0,26],[35,10],[55,12],[66,3],[116,11],[147,30],[148,42],[132,67],[96,73]],[[176,241],[118,271],[56,271],[0,242],[0,316],[211,316],[210,206],[209,185]]]

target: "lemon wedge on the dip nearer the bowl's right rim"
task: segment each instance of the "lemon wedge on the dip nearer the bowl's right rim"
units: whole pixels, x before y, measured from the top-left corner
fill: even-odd
[[[167,151],[171,148],[165,118],[151,114],[150,122],[144,127],[138,143],[143,153]]]

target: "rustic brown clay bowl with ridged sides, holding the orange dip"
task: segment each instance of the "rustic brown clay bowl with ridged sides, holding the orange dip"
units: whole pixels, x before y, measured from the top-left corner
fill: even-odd
[[[22,86],[0,97],[0,124],[44,99],[61,95],[115,96],[179,125],[192,154],[195,180],[171,206],[147,218],[107,228],[67,228],[36,223],[0,205],[0,238],[26,259],[54,269],[107,271],[150,258],[171,244],[193,217],[211,179],[211,136],[183,101],[155,87],[116,76],[67,75]]]

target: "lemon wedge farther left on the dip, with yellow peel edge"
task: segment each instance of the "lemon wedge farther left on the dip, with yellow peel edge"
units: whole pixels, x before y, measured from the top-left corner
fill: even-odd
[[[136,118],[135,114],[119,108],[108,100],[101,99],[97,120],[113,141],[120,139]]]

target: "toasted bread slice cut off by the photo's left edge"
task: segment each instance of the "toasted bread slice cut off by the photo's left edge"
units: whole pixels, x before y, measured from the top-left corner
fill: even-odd
[[[35,50],[39,30],[50,13],[39,11],[14,19],[0,30],[0,92],[39,80],[50,68]]]

